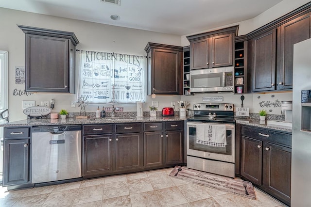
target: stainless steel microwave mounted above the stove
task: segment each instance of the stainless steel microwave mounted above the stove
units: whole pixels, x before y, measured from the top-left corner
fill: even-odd
[[[190,71],[190,92],[233,92],[234,67]]]

